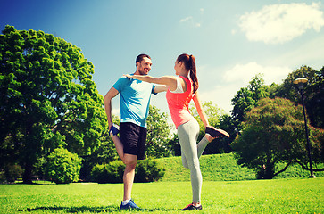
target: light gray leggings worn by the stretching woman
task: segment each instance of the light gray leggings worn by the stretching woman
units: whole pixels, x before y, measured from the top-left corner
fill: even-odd
[[[199,124],[195,119],[191,119],[178,127],[182,164],[185,168],[190,169],[193,202],[200,202],[203,177],[200,171],[199,158],[209,143],[204,136],[199,144],[196,144],[198,135]]]

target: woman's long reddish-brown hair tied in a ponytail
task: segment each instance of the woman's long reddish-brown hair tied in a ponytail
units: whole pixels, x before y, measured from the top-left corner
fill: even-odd
[[[195,68],[195,56],[188,55],[187,53],[183,53],[178,56],[177,62],[183,62],[185,65],[185,68],[190,71],[190,78],[191,81],[193,81],[193,93],[198,90],[199,84],[198,84],[198,78],[197,78],[197,70]]]

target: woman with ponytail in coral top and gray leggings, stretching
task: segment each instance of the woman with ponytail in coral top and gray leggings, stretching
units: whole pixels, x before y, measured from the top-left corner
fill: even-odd
[[[174,70],[176,70],[177,77],[164,76],[161,78],[154,78],[139,75],[125,76],[167,86],[166,98],[171,119],[178,130],[182,164],[185,168],[190,169],[193,192],[193,202],[187,205],[183,210],[202,210],[200,197],[203,179],[199,166],[199,157],[204,152],[207,144],[212,142],[214,138],[229,135],[227,132],[213,128],[209,125],[197,92],[198,79],[196,76],[195,57],[186,53],[179,55],[175,62]],[[188,109],[191,100],[194,100],[196,110],[206,128],[206,135],[199,144],[196,144],[199,134],[199,124]]]

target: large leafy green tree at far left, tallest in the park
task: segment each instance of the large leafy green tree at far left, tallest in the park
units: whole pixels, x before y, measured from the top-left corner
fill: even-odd
[[[94,66],[80,49],[42,31],[6,26],[0,35],[1,161],[8,154],[31,183],[33,165],[59,145],[96,149],[106,119]]]

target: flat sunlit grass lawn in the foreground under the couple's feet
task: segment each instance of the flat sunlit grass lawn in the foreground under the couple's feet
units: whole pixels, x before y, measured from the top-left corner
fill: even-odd
[[[122,184],[0,185],[0,213],[127,213]],[[323,213],[324,178],[205,181],[200,213]],[[135,213],[179,213],[189,182],[134,184]]]

